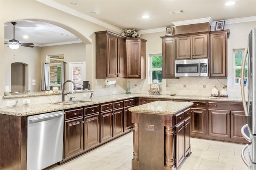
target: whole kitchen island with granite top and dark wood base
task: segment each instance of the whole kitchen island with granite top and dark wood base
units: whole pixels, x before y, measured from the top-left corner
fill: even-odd
[[[129,108],[134,125],[132,170],[178,168],[190,153],[192,105],[156,101]]]

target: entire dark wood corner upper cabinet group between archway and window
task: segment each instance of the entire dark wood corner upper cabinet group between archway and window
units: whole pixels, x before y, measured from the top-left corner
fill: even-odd
[[[96,78],[146,78],[146,40],[96,34]]]

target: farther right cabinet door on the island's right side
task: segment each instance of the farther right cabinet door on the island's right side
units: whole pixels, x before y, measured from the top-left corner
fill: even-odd
[[[190,117],[184,120],[184,151],[185,156],[190,153]]]

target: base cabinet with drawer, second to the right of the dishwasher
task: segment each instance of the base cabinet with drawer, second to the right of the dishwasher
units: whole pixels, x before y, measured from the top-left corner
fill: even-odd
[[[84,108],[84,150],[89,150],[100,143],[99,106]]]

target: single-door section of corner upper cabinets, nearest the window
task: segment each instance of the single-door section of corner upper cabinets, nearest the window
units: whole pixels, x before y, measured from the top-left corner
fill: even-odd
[[[146,41],[126,39],[126,78],[146,78]]]

